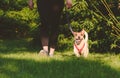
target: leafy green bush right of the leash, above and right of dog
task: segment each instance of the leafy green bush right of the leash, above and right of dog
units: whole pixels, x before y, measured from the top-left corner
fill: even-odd
[[[118,52],[120,42],[118,38],[120,36],[120,23],[119,19],[117,19],[120,17],[119,15],[117,16],[118,10],[116,9],[115,12],[110,10],[115,9],[112,6],[111,8],[108,7],[108,3],[111,3],[110,1],[106,3],[103,0],[78,0],[76,3],[69,11],[71,26],[74,31],[84,28],[89,33],[90,50]],[[114,14],[116,13],[116,15],[114,16],[111,11]],[[96,41],[97,43],[94,43]]]

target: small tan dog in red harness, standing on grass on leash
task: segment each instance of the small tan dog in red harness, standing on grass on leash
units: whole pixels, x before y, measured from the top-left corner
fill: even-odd
[[[87,57],[88,49],[88,33],[82,29],[80,32],[72,32],[74,36],[74,54],[77,57]]]

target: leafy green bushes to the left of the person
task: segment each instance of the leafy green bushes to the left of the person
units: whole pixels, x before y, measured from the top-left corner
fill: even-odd
[[[6,33],[0,33],[1,37],[6,37],[8,33],[7,38],[30,36],[38,26],[36,9],[30,10],[27,0],[2,0],[0,2],[0,30],[2,33]],[[6,6],[4,6],[5,4]]]

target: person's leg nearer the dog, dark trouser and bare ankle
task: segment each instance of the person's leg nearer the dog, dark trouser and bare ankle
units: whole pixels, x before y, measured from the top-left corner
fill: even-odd
[[[54,1],[54,0],[53,0]],[[60,16],[64,7],[64,0],[55,0],[53,4],[51,5],[51,33],[50,33],[50,52],[49,55],[53,56],[55,47],[57,44],[57,38],[59,33],[59,22],[60,22]]]

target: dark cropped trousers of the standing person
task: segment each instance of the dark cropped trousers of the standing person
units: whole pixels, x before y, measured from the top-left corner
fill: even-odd
[[[64,0],[37,0],[37,7],[42,24],[41,37],[49,38],[50,36],[50,45],[56,45]]]

